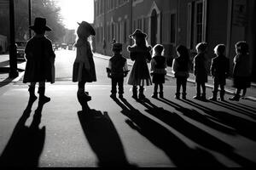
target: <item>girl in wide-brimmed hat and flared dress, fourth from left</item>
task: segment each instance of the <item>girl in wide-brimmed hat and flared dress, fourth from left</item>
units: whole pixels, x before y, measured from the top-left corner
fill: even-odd
[[[135,61],[128,79],[128,84],[132,85],[132,98],[134,99],[145,99],[144,86],[152,85],[147,65],[147,61],[151,60],[150,51],[152,48],[147,45],[146,37],[147,34],[137,29],[130,35],[130,38],[135,42],[134,45],[127,48],[131,60]],[[138,98],[137,86],[139,86]]]

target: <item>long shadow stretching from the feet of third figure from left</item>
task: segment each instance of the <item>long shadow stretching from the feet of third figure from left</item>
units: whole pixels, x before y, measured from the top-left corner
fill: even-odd
[[[122,108],[121,113],[129,118],[125,122],[160,150],[163,150],[175,166],[224,167],[207,150],[202,150],[199,147],[190,148],[166,127],[135,109],[126,99],[114,99],[114,101]]]

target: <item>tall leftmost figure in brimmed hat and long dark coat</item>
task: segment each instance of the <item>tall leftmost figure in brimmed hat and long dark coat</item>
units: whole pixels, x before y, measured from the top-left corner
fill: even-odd
[[[30,100],[35,101],[36,83],[39,83],[38,94],[39,102],[49,102],[50,98],[44,95],[45,82],[55,82],[55,53],[51,41],[44,36],[45,31],[51,31],[46,26],[46,19],[36,18],[34,25],[29,27],[35,35],[26,43],[26,69],[23,82],[30,82],[28,88]]]

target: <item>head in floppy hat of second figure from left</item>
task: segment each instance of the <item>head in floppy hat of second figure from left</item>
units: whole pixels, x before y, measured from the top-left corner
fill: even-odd
[[[79,38],[88,39],[88,37],[96,35],[94,28],[88,22],[82,21],[78,24],[77,34]]]

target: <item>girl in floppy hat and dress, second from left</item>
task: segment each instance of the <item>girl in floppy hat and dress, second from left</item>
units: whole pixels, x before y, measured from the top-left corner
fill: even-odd
[[[79,82],[78,98],[87,102],[90,101],[91,97],[88,92],[84,91],[85,83],[96,82],[96,69],[89,42],[90,36],[95,36],[96,32],[86,21],[82,21],[78,24],[77,34],[79,39],[74,45],[77,52],[76,59],[73,63],[73,82]]]

